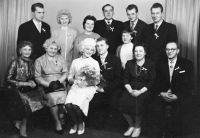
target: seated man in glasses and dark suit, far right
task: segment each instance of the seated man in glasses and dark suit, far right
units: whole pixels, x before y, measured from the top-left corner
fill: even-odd
[[[159,133],[173,137],[182,134],[182,117],[194,88],[194,68],[190,60],[177,56],[177,43],[169,42],[165,51],[168,59],[159,61],[156,70],[155,118]]]

